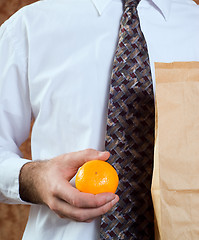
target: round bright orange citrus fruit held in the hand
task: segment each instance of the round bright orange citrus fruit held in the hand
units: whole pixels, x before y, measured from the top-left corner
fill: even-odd
[[[83,164],[76,175],[76,188],[85,193],[115,193],[119,178],[116,170],[107,162],[91,160]]]

